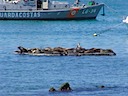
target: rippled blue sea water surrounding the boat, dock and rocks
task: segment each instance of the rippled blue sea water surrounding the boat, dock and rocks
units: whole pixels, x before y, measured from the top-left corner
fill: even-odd
[[[128,96],[128,27],[122,24],[128,15],[127,0],[97,1],[105,3],[106,14],[101,16],[101,10],[95,20],[1,20],[0,96]],[[14,54],[18,46],[72,48],[78,43],[84,48],[109,48],[117,55]],[[48,91],[65,82],[72,92]]]

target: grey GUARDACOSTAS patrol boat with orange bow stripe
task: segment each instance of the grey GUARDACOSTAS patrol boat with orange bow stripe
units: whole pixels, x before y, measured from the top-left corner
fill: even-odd
[[[52,0],[1,0],[0,20],[95,19],[103,3],[75,0],[73,4]]]

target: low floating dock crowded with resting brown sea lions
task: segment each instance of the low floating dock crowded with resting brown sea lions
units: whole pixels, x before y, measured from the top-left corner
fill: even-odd
[[[27,55],[45,55],[45,56],[113,56],[116,53],[112,49],[101,49],[101,48],[91,48],[85,49],[82,47],[76,48],[63,48],[63,47],[47,47],[41,48],[24,48],[22,46],[18,47],[19,50],[15,51],[17,54],[27,54]]]

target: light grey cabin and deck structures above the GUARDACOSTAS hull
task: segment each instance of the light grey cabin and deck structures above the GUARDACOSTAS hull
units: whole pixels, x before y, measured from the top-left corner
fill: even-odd
[[[68,2],[50,0],[2,0],[0,10],[57,10],[70,8]]]

